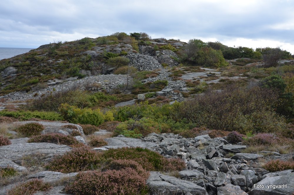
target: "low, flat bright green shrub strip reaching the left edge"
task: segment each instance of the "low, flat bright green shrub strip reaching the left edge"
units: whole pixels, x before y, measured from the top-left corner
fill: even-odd
[[[56,112],[42,111],[0,111],[0,116],[8,116],[15,119],[28,120],[38,118],[50,121],[63,121],[64,118]]]

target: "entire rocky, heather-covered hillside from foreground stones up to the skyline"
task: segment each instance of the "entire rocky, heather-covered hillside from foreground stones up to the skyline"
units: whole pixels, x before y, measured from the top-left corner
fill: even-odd
[[[1,60],[0,194],[290,195],[292,57],[115,33]]]

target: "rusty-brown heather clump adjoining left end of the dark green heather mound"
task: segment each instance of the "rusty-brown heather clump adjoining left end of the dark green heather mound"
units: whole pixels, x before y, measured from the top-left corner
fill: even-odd
[[[62,156],[56,156],[47,165],[51,171],[71,173],[78,171],[89,171],[99,164],[99,157],[96,151],[88,146],[74,148]]]

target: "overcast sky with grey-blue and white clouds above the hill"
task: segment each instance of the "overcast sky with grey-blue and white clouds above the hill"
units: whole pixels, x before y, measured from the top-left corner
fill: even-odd
[[[277,47],[294,54],[293,0],[1,0],[0,47],[115,32]]]

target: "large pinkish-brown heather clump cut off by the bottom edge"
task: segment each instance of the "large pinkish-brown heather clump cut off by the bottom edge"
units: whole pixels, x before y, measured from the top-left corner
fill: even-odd
[[[81,172],[66,191],[76,195],[129,195],[139,194],[145,188],[146,179],[136,170],[125,168],[105,172]]]

